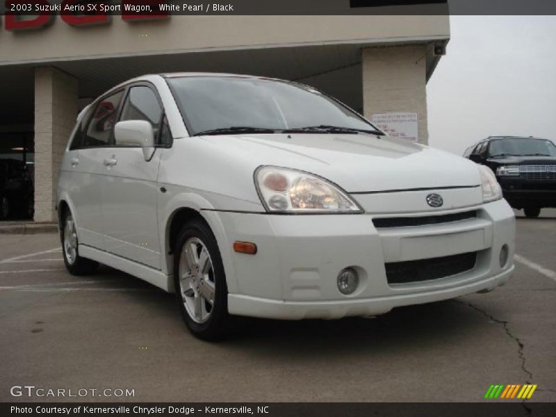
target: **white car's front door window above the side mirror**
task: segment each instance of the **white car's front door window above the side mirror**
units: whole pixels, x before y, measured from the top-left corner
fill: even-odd
[[[156,144],[160,145],[158,138],[161,126],[162,133],[165,130],[163,110],[151,88],[145,85],[136,85],[129,89],[120,120],[146,120],[152,124]]]

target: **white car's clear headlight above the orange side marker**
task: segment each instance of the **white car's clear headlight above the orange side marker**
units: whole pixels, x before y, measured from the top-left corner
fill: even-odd
[[[271,213],[362,213],[338,186],[308,172],[281,167],[259,167],[255,186]]]

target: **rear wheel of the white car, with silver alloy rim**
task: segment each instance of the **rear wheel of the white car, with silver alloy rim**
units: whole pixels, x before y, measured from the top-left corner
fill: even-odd
[[[72,275],[92,275],[99,267],[99,263],[79,256],[79,240],[72,213],[67,211],[60,228],[60,240],[64,255],[65,267]]]

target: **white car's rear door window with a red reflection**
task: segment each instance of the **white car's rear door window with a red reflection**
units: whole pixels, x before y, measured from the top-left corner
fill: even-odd
[[[83,136],[82,147],[103,147],[110,144],[122,95],[123,91],[119,91],[97,103],[87,133]]]

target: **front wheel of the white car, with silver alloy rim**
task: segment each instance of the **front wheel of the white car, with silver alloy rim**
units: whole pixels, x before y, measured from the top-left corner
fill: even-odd
[[[174,288],[181,317],[193,335],[218,341],[231,325],[222,257],[210,227],[186,223],[174,247]]]

